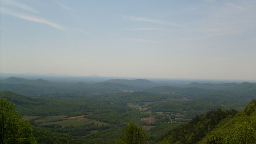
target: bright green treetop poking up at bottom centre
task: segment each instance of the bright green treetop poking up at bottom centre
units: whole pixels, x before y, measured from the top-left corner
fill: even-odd
[[[148,136],[143,130],[136,126],[133,122],[130,122],[123,132],[123,139],[119,140],[119,144],[146,144],[148,142]]]

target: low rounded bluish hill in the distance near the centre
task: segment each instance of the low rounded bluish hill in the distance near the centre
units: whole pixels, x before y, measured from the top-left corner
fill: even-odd
[[[110,79],[110,80],[107,80],[105,82],[127,84],[129,86],[138,86],[138,87],[154,87],[154,86],[157,86],[156,83],[151,82],[150,80],[147,80],[147,79],[134,79],[134,80]]]

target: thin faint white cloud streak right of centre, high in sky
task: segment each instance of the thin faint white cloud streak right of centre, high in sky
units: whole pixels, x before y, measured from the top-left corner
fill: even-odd
[[[169,21],[162,21],[158,19],[149,19],[145,17],[123,17],[127,20],[130,21],[139,21],[139,22],[148,22],[148,23],[155,23],[159,25],[168,25],[168,26],[175,26],[175,27],[183,27],[184,25],[178,24],[178,23],[173,23]]]

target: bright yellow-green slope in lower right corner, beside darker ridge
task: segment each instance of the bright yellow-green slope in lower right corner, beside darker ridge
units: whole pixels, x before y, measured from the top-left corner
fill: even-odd
[[[222,120],[212,131],[198,142],[198,144],[218,142],[220,144],[229,141],[237,144],[256,143],[256,100],[253,100],[246,109],[237,113],[234,117]]]

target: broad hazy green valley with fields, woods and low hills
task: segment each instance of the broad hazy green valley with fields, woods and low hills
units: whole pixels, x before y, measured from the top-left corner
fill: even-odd
[[[219,108],[241,110],[256,98],[254,83],[248,88],[242,86],[241,91],[247,93],[240,95],[232,87],[210,90],[150,83],[154,86],[143,88],[148,81],[143,80],[139,86],[138,81],[83,84],[12,77],[0,80],[0,97],[14,102],[23,119],[32,124],[36,139],[42,144],[49,141],[112,144],[122,137],[123,127],[131,121],[141,127],[153,143],[197,115]],[[129,92],[127,88],[131,88]],[[47,136],[47,141],[39,138],[42,135]],[[108,141],[102,141],[106,135]]]

